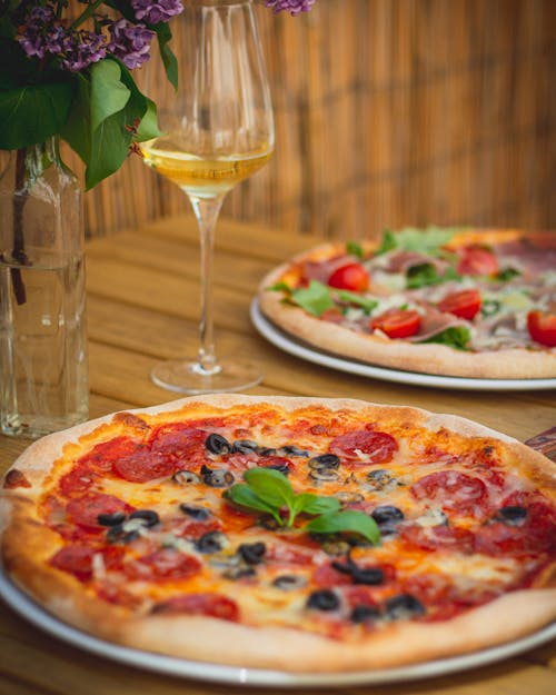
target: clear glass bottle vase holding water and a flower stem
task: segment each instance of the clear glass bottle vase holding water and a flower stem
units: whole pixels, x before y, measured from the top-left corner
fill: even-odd
[[[36,438],[88,418],[83,222],[58,140],[0,176],[0,427]]]

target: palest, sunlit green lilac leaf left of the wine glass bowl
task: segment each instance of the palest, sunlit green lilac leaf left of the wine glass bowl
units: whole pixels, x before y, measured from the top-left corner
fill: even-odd
[[[131,91],[121,82],[121,68],[116,60],[95,63],[90,75],[91,130],[95,131],[112,113],[123,109]]]

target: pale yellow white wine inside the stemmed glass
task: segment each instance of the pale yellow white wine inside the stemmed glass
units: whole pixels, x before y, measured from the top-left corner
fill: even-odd
[[[146,163],[187,193],[212,198],[258,171],[272,156],[269,148],[218,157],[199,157],[178,149],[165,149],[157,140],[140,145]]]

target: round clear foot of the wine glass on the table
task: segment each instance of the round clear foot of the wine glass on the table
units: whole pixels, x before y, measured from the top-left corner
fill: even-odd
[[[156,365],[150,373],[157,386],[180,394],[218,394],[241,391],[259,384],[262,375],[248,360],[237,357],[218,361],[218,367],[207,373],[198,363],[172,359]]]

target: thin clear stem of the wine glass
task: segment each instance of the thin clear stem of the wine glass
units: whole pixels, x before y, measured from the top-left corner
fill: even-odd
[[[220,371],[220,365],[215,355],[214,339],[214,302],[212,302],[212,259],[215,245],[215,228],[226,193],[215,198],[199,198],[189,195],[200,232],[201,261],[201,315],[199,322],[199,355],[195,370],[197,374],[211,376]]]

